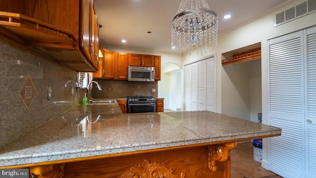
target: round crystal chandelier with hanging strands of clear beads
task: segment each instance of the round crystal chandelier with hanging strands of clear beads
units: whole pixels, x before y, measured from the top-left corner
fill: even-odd
[[[206,0],[181,0],[177,14],[172,19],[172,52],[183,55],[193,50],[205,53],[217,48],[217,14]]]

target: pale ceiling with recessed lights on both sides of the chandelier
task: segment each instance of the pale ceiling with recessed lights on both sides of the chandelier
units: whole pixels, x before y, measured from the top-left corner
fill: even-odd
[[[293,0],[207,0],[218,15],[219,35],[254,21]],[[181,0],[94,0],[105,48],[171,53],[171,20]],[[230,14],[230,19],[224,15]],[[147,32],[152,32],[148,34]],[[126,40],[123,44],[121,40]],[[118,51],[119,52],[119,51]]]

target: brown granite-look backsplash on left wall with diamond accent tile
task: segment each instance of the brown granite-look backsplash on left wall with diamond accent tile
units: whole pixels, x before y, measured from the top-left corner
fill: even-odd
[[[0,40],[0,147],[78,104],[86,89],[76,80],[76,72]]]

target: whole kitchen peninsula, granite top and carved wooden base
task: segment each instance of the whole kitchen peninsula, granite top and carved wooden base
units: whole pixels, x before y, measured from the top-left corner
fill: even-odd
[[[209,111],[122,114],[78,105],[0,149],[0,168],[38,178],[230,178],[236,141],[281,129]]]

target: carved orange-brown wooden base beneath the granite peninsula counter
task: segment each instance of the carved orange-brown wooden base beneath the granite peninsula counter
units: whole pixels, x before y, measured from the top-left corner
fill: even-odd
[[[38,178],[230,178],[235,146],[229,142],[99,156],[31,167],[30,173]]]

